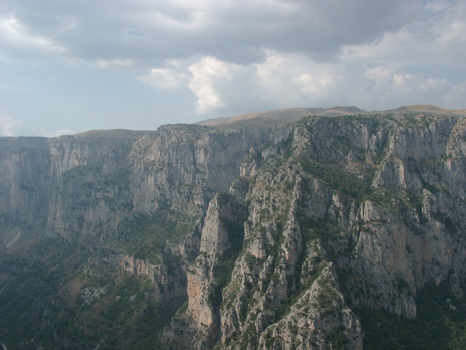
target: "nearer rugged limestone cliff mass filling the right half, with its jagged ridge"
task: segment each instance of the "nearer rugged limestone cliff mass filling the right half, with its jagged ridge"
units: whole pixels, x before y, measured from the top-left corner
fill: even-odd
[[[246,193],[239,184],[251,179],[217,346],[325,349],[338,338],[362,349],[362,328],[346,299],[416,317],[416,292],[425,283],[448,280],[461,294],[464,125],[461,118],[381,115],[309,118],[273,130],[272,142],[245,158],[243,180],[231,189]],[[217,249],[222,241],[203,239]],[[208,276],[217,263],[200,255],[196,275]],[[207,282],[191,282],[198,292],[189,302],[198,311],[212,305]],[[203,349],[196,336],[188,344]]]

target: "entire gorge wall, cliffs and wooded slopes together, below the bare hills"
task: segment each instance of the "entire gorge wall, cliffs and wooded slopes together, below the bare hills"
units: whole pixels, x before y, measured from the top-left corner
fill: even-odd
[[[0,138],[0,343],[465,349],[466,119],[340,114]]]

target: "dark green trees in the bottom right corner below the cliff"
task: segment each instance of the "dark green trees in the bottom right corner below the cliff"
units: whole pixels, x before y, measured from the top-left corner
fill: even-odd
[[[448,283],[429,284],[418,292],[417,318],[363,308],[364,349],[466,349],[466,299],[453,295]]]

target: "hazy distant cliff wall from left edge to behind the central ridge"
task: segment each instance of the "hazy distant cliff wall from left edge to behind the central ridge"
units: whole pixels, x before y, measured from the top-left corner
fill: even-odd
[[[250,148],[267,138],[266,128],[191,125],[166,125],[140,140],[0,138],[1,245],[19,231],[28,232],[21,241],[115,230],[130,211],[204,211],[215,192],[228,191]]]

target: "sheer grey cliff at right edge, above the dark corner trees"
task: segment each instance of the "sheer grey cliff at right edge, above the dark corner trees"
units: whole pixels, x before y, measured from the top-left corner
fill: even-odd
[[[464,130],[463,125],[463,119],[442,118],[392,128],[372,182],[374,189],[390,191],[385,192],[389,198],[360,206],[361,231],[350,265],[353,273],[364,276],[368,297],[354,296],[355,301],[415,317],[416,290],[430,281],[465,276],[459,229],[466,213],[459,180],[464,170],[452,176],[447,153],[464,159],[465,153],[448,151],[452,143],[462,147],[464,134],[457,130]],[[358,284],[361,288],[360,280]]]

